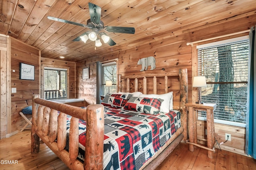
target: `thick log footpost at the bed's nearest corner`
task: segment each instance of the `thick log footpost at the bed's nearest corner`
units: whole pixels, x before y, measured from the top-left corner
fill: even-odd
[[[84,169],[103,169],[104,106],[89,105],[87,108],[86,144]],[[88,165],[88,166],[86,166]]]

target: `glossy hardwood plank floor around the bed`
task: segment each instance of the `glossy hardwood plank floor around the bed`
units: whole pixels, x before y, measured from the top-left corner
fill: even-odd
[[[4,164],[4,160],[13,160]],[[67,166],[45,144],[40,144],[40,152],[30,154],[30,131],[23,131],[10,138],[0,140],[1,170],[68,170]],[[214,158],[207,157],[207,150],[188,150],[188,145],[180,143],[176,149],[158,166],[158,170],[256,170],[256,160],[225,150],[216,150]]]

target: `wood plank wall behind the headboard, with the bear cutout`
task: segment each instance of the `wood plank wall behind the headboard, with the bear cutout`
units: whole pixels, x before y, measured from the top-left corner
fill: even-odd
[[[221,41],[224,39],[230,39],[234,37],[240,37],[248,35],[248,33],[242,33],[238,35],[232,35],[228,37],[223,37],[219,39],[214,39],[211,41],[205,41],[202,43],[191,45],[186,45],[186,43],[191,41],[198,41],[201,39],[208,39],[211,37],[217,37],[220,35],[226,35],[230,32],[238,32],[249,29],[251,26],[256,24],[256,16],[244,16],[240,20],[236,20],[236,17],[230,18],[230,20],[225,20],[218,23],[208,24],[209,26],[200,26],[197,29],[182,31],[183,28],[173,30],[172,32],[163,33],[160,37],[156,39],[142,40],[138,43],[129,44],[123,47],[119,51],[113,51],[104,56],[95,56],[93,59],[87,59],[86,61],[81,61],[79,63],[86,63],[77,65],[77,72],[82,72],[82,67],[89,66],[96,68],[96,61],[106,61],[118,58],[118,72],[122,75],[133,75],[133,74],[144,74],[144,73],[165,73],[165,72],[178,72],[179,68],[188,69],[188,102],[195,102],[197,99],[197,90],[192,88],[192,77],[197,75],[197,51],[196,45],[210,43],[214,41]],[[230,27],[232,25],[232,27]],[[154,70],[146,70],[140,72],[141,65],[137,65],[139,59],[144,57],[153,56],[156,58],[156,68]],[[91,69],[90,68],[90,69]],[[150,66],[149,68],[150,69]],[[95,71],[96,72],[96,71]],[[86,82],[95,82],[95,72],[91,75],[92,80],[79,80],[80,81],[77,88],[78,96],[85,96],[83,93],[87,90],[85,88]],[[81,73],[80,73],[81,74]],[[80,77],[80,76],[79,76]],[[177,80],[178,81],[178,80]],[[170,86],[172,88],[176,87],[176,82],[172,82]],[[95,88],[94,88],[95,86]],[[90,85],[90,92],[96,91],[96,82],[93,86]],[[88,90],[89,91],[89,90]],[[95,96],[95,97],[94,97]],[[90,100],[96,101],[96,92]],[[177,99],[178,93],[174,92],[174,98]],[[176,100],[175,99],[175,100]],[[174,102],[175,102],[174,100]],[[198,138],[205,138],[206,122],[197,122],[197,134]],[[245,148],[245,128],[236,127],[224,124],[215,123],[215,133],[218,142],[225,141],[225,133],[232,135],[232,141],[227,141],[221,145],[221,149],[228,150],[231,152],[236,152],[239,154],[244,154]],[[204,141],[198,141],[198,143],[204,144]],[[218,148],[218,147],[217,147]]]

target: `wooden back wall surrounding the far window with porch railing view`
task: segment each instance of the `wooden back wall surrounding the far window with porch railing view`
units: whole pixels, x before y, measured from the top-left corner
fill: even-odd
[[[44,67],[67,69],[67,98],[76,98],[76,63],[41,57],[41,98],[44,98]]]

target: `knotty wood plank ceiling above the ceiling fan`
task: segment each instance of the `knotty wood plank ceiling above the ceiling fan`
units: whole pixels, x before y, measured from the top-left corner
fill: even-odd
[[[88,2],[102,8],[105,26],[134,27],[135,34],[106,32],[116,45],[102,42],[95,50],[90,40],[72,41],[90,29],[47,18],[86,25]],[[80,61],[255,13],[256,0],[0,0],[0,33],[40,49],[42,57]]]

